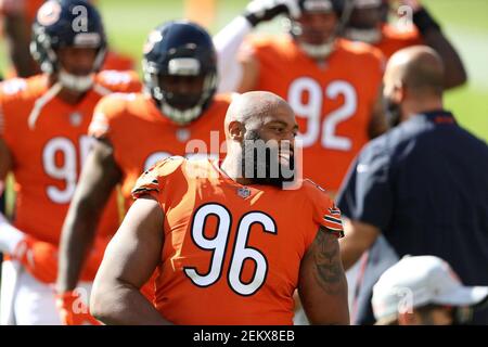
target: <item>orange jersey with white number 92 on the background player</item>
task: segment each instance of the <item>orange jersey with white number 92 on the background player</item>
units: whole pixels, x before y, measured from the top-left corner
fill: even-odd
[[[369,141],[368,127],[384,60],[364,43],[338,40],[323,65],[287,35],[252,37],[242,54],[259,63],[255,90],[284,98],[297,116],[304,177],[337,191],[349,164]]]

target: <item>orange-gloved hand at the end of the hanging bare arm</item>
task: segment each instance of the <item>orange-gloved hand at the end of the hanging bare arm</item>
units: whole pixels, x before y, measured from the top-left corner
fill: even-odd
[[[56,294],[56,308],[64,325],[101,325],[76,291]]]

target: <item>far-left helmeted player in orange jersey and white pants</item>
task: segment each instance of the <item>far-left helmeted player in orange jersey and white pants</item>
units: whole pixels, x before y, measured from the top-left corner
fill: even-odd
[[[43,267],[43,260],[56,258],[62,222],[92,144],[87,132],[93,108],[112,91],[141,89],[133,74],[98,73],[106,38],[89,3],[48,1],[33,31],[33,56],[43,74],[5,81],[0,93],[0,178],[13,172],[17,194],[14,227],[4,218],[0,221],[2,250],[14,258],[3,265],[2,323],[26,325],[61,323],[51,288],[55,261]],[[118,227],[115,196],[102,219],[97,243]],[[97,253],[97,247],[90,254],[85,282],[94,277],[102,255],[103,248]],[[76,298],[64,303],[70,306]]]

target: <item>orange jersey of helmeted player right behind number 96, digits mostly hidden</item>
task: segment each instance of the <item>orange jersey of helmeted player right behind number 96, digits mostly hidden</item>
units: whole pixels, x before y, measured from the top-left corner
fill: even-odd
[[[102,99],[89,133],[111,141],[124,175],[121,192],[126,203],[131,204],[130,193],[142,171],[168,156],[190,156],[194,152],[192,141],[198,141],[207,149],[206,153],[218,156],[230,102],[231,94],[216,95],[200,118],[180,126],[162,115],[152,98],[143,93],[115,93]],[[214,143],[210,143],[211,131],[218,134]]]

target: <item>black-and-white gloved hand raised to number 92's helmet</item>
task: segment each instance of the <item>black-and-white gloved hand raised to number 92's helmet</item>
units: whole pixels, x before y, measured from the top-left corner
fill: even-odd
[[[300,12],[298,0],[253,0],[247,5],[244,17],[251,25],[256,26],[280,14],[298,17]]]

